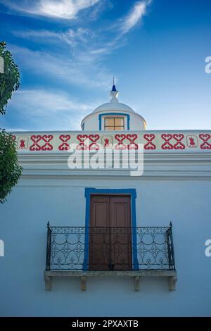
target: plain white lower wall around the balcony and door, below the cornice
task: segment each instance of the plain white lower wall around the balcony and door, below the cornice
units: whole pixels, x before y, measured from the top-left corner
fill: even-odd
[[[84,225],[84,187],[135,188],[137,225],[173,223],[177,290],[147,278],[94,277],[87,292],[77,278],[53,280],[44,290],[46,223]],[[1,316],[210,316],[210,178],[69,177],[24,179],[0,207]]]

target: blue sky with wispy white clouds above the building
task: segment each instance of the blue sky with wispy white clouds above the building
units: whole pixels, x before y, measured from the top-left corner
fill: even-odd
[[[115,75],[148,130],[210,129],[210,34],[207,0],[0,0],[21,73],[0,127],[79,130]]]

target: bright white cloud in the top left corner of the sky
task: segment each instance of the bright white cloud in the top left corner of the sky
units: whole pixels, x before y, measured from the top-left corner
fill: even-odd
[[[1,0],[1,3],[23,13],[70,20],[76,18],[79,11],[94,6],[98,1],[100,0],[39,0],[32,3],[29,0]]]

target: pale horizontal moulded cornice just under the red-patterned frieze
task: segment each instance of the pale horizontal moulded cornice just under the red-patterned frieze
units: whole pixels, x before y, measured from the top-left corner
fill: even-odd
[[[143,175],[139,177],[124,169],[69,169],[67,154],[20,154],[18,159],[23,166],[23,178],[211,178],[211,153],[148,152],[143,154]]]

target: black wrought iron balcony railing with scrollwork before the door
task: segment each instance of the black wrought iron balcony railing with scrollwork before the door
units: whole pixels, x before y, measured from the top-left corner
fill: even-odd
[[[46,270],[175,270],[172,223],[47,229]]]

